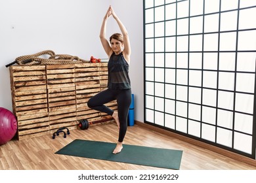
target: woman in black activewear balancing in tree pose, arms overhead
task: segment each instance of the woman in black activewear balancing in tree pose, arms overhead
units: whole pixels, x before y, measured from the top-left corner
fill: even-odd
[[[106,39],[106,24],[108,18],[113,16],[119,25],[120,33],[110,37],[110,43]],[[129,62],[131,47],[127,30],[110,6],[104,16],[100,29],[100,41],[108,55],[108,89],[91,97],[87,105],[90,108],[105,112],[113,116],[119,129],[119,137],[113,154],[121,152],[123,139],[127,131],[127,116],[131,105],[131,81],[129,78]],[[117,100],[117,111],[114,111],[104,104]]]

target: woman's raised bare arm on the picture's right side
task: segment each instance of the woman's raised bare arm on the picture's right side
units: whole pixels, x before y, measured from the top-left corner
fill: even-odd
[[[114,12],[113,8],[110,6],[110,12],[113,16],[113,18],[116,20],[119,29],[121,30],[121,33],[123,35],[123,44],[124,44],[124,49],[123,49],[123,56],[127,61],[130,61],[130,56],[131,56],[131,45],[129,41],[129,35],[128,32],[125,28],[125,25],[121,22],[121,20],[117,17],[116,13]]]

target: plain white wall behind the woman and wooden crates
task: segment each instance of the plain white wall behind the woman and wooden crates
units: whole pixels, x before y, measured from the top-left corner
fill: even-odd
[[[131,82],[135,120],[143,122],[142,0],[9,0],[0,1],[0,107],[12,110],[9,68],[18,56],[53,50],[79,58],[106,58],[98,37],[102,18],[114,7],[131,37]],[[109,21],[107,35],[118,31]]]

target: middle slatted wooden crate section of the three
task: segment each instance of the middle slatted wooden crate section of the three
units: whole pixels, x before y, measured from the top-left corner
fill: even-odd
[[[51,134],[76,129],[75,65],[46,65],[46,73]]]

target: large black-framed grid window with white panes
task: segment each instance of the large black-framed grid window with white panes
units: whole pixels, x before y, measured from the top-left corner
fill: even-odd
[[[255,0],[144,0],[144,120],[255,159]]]

